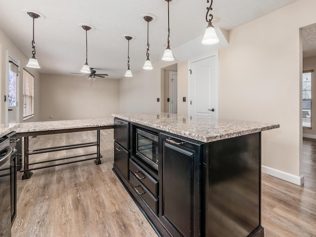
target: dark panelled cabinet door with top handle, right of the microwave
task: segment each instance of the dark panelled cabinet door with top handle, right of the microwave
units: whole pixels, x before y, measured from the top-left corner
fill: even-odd
[[[160,133],[160,144],[159,218],[172,236],[197,236],[201,144],[164,133]]]

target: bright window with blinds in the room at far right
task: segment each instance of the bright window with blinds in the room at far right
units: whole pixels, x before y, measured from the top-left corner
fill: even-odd
[[[312,128],[312,72],[303,72],[302,98],[303,98],[303,127]]]

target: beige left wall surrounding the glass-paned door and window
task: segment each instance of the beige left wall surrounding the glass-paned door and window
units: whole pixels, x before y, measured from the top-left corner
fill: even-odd
[[[30,41],[31,43],[31,41]],[[7,70],[8,70],[8,60],[7,60],[7,51],[14,55],[18,60],[20,60],[19,67],[19,122],[23,122],[23,68],[26,68],[26,64],[29,61],[29,58],[26,58],[22,52],[13,44],[13,42],[4,34],[0,29],[0,123],[5,123],[5,114],[6,107],[4,102],[4,95],[7,96],[6,91],[6,80],[7,80]],[[30,55],[32,56],[32,47],[30,46]],[[38,57],[40,61],[40,57]],[[39,98],[39,89],[40,89],[40,74],[37,69],[27,68],[27,70],[34,76],[34,114],[35,116],[29,118],[25,121],[37,121],[39,119],[40,112],[40,98]]]

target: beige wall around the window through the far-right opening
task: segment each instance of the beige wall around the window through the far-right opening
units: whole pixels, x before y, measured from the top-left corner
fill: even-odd
[[[316,57],[303,60],[303,71],[314,70],[312,73],[312,98],[316,98]],[[314,119],[313,119],[314,118]],[[312,103],[312,129],[303,128],[303,134],[316,135],[316,103]]]

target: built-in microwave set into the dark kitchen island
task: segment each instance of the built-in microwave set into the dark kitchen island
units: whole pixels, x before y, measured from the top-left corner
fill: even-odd
[[[137,128],[136,155],[158,170],[158,135]]]

